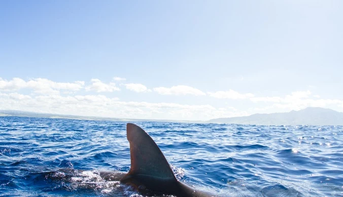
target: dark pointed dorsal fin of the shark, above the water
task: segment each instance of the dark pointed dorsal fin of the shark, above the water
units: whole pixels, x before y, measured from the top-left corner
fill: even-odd
[[[131,154],[129,175],[143,174],[176,179],[163,153],[148,133],[135,124],[127,123],[126,134]]]

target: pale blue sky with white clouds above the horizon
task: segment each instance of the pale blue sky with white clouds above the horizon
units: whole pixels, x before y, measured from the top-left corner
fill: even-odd
[[[0,1],[0,110],[343,112],[343,1]]]

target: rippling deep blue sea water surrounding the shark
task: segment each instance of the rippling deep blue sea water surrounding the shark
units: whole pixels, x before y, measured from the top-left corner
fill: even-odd
[[[180,181],[220,196],[343,196],[342,126],[133,122]],[[0,117],[1,196],[140,196],[126,122]]]

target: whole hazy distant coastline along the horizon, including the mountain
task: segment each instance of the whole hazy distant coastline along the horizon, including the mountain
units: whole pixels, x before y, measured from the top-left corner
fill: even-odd
[[[60,115],[48,113],[24,112],[17,110],[0,110],[0,117],[37,117],[37,118],[61,118],[76,120],[102,120],[102,121],[125,121],[125,122],[181,122],[181,123],[219,123],[219,124],[247,124],[247,125],[343,125],[343,113],[325,108],[306,108],[299,111],[272,114],[253,114],[251,116],[217,118],[208,121],[186,120],[150,120],[107,118],[91,116]]]

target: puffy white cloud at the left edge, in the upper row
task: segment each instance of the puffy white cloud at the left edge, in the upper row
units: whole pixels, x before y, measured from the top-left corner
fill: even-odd
[[[58,94],[59,90],[78,91],[83,88],[84,81],[74,83],[54,82],[49,79],[36,78],[24,81],[20,78],[13,78],[10,81],[0,79],[0,90],[17,91],[23,88],[33,89],[33,92],[40,94]]]

